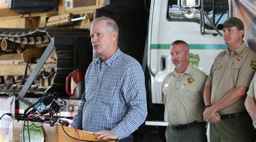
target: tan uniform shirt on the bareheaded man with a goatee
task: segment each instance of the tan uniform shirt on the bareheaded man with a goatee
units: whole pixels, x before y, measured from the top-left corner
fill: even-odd
[[[204,121],[203,90],[207,75],[188,65],[178,77],[176,70],[169,73],[162,85],[162,102],[165,105],[164,120],[171,125]]]

